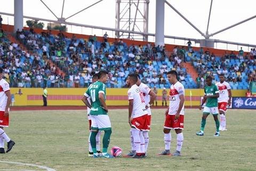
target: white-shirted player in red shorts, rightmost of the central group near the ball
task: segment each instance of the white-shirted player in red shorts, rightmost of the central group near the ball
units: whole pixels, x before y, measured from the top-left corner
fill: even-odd
[[[184,127],[184,101],[185,101],[185,88],[178,82],[178,74],[175,70],[167,72],[167,79],[172,84],[170,88],[170,104],[165,112],[164,123],[164,143],[165,150],[159,155],[171,155],[171,129],[174,129],[177,134],[177,148],[172,156],[180,156],[180,151],[183,143],[182,129]]]

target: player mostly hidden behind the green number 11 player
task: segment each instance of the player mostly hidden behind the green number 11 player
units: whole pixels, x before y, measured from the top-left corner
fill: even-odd
[[[98,74],[94,74],[92,76],[92,84],[97,82],[97,81],[98,81]],[[87,101],[86,101],[86,99],[87,99]],[[85,105],[86,105],[86,103],[89,103],[91,105],[91,98],[85,96],[85,94],[82,97],[82,101],[84,102]],[[87,104],[87,105],[89,105],[89,104]],[[90,130],[90,135],[89,135],[89,139],[88,139],[88,144],[89,144],[89,154],[88,154],[88,156],[93,157],[92,146],[91,146],[91,141],[90,141],[90,137],[91,137],[91,133],[92,133],[91,132],[92,120],[91,120],[91,117],[90,117],[90,111],[91,111],[91,109],[89,107],[87,107],[87,117],[88,117],[88,121],[89,121],[89,130]],[[99,154],[101,153],[101,151],[100,151],[100,135],[101,135],[101,131],[99,131],[98,134],[96,135],[96,149],[97,149]]]

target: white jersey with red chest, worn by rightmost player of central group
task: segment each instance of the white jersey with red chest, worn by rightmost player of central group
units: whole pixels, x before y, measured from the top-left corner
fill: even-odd
[[[184,86],[180,82],[177,82],[174,85],[171,85],[169,95],[170,95],[170,97],[169,97],[170,104],[169,104],[168,114],[175,115],[179,109],[180,95],[185,96]],[[184,115],[184,104],[180,111],[180,115]]]

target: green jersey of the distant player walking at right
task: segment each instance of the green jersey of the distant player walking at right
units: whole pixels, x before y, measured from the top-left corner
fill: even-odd
[[[204,87],[204,94],[205,95],[215,95],[219,93],[219,89],[215,84],[212,84],[211,86],[205,86]],[[218,97],[210,97],[206,99],[206,107],[213,108],[218,107]]]

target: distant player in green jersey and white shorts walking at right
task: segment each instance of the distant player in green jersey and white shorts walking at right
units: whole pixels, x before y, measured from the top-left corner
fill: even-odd
[[[203,136],[204,135],[204,126],[206,124],[206,118],[209,116],[210,113],[212,113],[213,118],[215,120],[216,125],[216,133],[214,136],[220,136],[220,122],[218,119],[218,97],[219,97],[219,89],[215,84],[212,84],[212,77],[207,76],[206,77],[206,86],[204,87],[204,99],[202,102],[202,105],[199,107],[199,110],[202,109],[203,104],[206,102],[206,105],[204,107],[203,111],[203,117],[201,122],[201,131],[197,132],[196,135]]]

